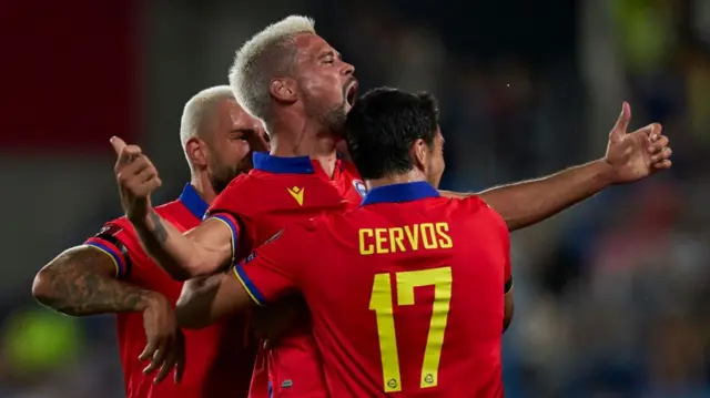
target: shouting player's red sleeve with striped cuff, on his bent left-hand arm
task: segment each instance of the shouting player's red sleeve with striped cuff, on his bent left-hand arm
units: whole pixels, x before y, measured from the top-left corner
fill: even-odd
[[[252,238],[253,229],[245,221],[248,218],[243,215],[240,207],[244,201],[240,197],[241,188],[239,188],[239,177],[234,178],[222,193],[215,197],[214,202],[207,210],[204,220],[216,220],[223,223],[232,234],[232,264],[236,264],[253,251],[254,242]],[[252,233],[250,233],[252,232]]]

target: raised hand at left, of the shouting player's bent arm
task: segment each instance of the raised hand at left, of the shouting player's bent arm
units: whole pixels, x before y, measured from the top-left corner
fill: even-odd
[[[162,184],[158,170],[139,146],[126,145],[118,136],[111,139],[111,145],[118,156],[113,170],[125,216],[131,221],[142,220],[151,211],[151,193]]]

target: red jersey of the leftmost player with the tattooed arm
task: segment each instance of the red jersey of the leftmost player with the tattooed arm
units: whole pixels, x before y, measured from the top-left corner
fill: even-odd
[[[207,204],[187,184],[179,200],[155,208],[158,214],[180,231],[197,226]],[[121,217],[106,223],[94,237],[85,242],[111,256],[116,277],[142,288],[154,290],[174,303],[182,283],[172,279],[141,247],[131,223]],[[144,377],[148,365],[138,357],[145,348],[143,314],[118,314],[118,336],[123,363],[128,398],[207,398],[246,397],[256,345],[250,343],[244,317],[200,330],[184,330],[187,364],[179,386],[166,379],[153,385],[153,377]]]

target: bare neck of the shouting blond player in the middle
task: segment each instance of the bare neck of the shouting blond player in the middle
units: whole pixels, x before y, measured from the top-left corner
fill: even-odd
[[[282,157],[308,156],[321,163],[327,175],[335,172],[336,139],[320,123],[280,123],[270,126],[271,154]]]

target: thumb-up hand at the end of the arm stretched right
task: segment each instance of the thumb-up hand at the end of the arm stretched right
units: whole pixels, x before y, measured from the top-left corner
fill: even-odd
[[[641,180],[657,171],[670,169],[672,151],[662,126],[649,124],[627,133],[631,121],[631,106],[623,102],[621,114],[609,133],[605,161],[613,170],[613,183],[622,184]]]

